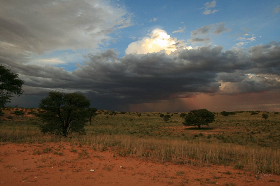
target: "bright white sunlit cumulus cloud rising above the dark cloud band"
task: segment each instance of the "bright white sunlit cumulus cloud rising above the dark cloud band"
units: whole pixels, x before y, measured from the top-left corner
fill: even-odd
[[[164,30],[155,29],[149,35],[150,37],[145,37],[142,40],[130,43],[125,53],[147,54],[165,50],[166,54],[170,54],[178,49],[177,39],[171,38]],[[192,47],[185,48],[191,49]]]

